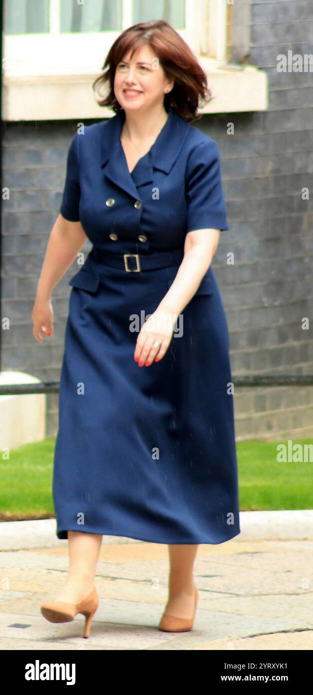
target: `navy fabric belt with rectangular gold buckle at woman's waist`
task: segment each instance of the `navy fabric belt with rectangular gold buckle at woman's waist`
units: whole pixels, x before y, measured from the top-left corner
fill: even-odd
[[[151,254],[119,254],[92,249],[92,257],[104,265],[112,268],[121,268],[126,272],[141,272],[141,270],[153,270],[153,268],[167,268],[170,265],[179,265],[183,261],[184,250],[151,252]]]

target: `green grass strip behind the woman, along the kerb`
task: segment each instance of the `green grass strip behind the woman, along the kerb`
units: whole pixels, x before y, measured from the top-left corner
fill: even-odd
[[[0,521],[53,518],[52,469],[56,439],[10,451],[0,461]],[[278,463],[276,445],[287,441],[237,442],[241,511],[312,509],[312,462]],[[310,439],[292,444],[312,444]]]

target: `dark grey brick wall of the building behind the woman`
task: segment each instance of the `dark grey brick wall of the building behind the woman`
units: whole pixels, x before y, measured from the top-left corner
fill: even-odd
[[[230,330],[233,375],[312,374],[313,72],[279,73],[276,56],[312,51],[311,0],[237,2],[230,11],[232,62],[269,75],[269,110],[203,115],[196,127],[219,145],[230,229],[212,267]],[[88,121],[95,122],[95,121]],[[227,134],[229,123],[235,135]],[[54,336],[32,334],[37,279],[60,204],[74,122],[7,123],[3,139],[1,368],[58,381],[69,270],[53,292]],[[303,200],[304,186],[311,199]],[[89,250],[86,245],[85,250]],[[235,254],[234,265],[227,254]],[[48,395],[47,434],[56,434],[57,395]],[[313,434],[313,388],[236,389],[237,439]]]

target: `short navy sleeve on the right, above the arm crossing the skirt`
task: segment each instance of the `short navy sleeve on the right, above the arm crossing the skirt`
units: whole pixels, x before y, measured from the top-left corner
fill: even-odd
[[[228,229],[219,149],[214,140],[194,148],[186,167],[187,232]]]

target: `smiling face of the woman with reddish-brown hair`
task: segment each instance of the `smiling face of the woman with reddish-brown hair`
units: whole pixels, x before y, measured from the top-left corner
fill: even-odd
[[[149,45],[139,47],[130,59],[128,52],[115,71],[114,92],[125,111],[147,111],[162,104],[164,92],[170,92],[174,81],[164,74],[160,60]]]

